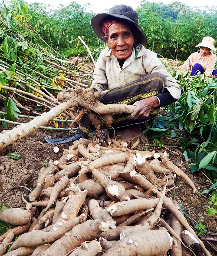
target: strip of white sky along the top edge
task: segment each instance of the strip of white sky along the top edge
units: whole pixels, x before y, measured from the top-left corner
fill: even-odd
[[[177,0],[178,1],[178,0]],[[55,9],[58,7],[58,5],[61,3],[63,5],[68,5],[72,2],[72,0],[26,0],[27,3],[33,3],[33,2],[39,2],[39,3],[45,3],[53,6]],[[74,2],[78,3],[80,6],[84,7],[85,4],[90,3],[92,5],[91,8],[86,8],[86,11],[92,11],[93,13],[100,13],[100,12],[106,12],[106,9],[109,9],[117,4],[125,4],[131,6],[134,10],[140,6],[139,0],[109,0],[107,3],[104,0],[74,0]],[[175,2],[175,0],[150,0],[148,2],[163,2],[164,4]],[[201,6],[213,6],[217,5],[214,4],[214,0],[180,0],[180,2],[187,4],[191,7],[201,7]]]

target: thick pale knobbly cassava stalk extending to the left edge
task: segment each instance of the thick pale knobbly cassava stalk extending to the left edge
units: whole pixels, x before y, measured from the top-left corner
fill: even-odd
[[[36,118],[34,118],[29,123],[23,123],[9,131],[4,130],[2,133],[0,133],[0,149],[13,144],[15,141],[21,140],[72,106],[73,103],[71,102],[62,103],[58,106],[55,106],[49,112],[45,112],[41,116],[36,116]]]

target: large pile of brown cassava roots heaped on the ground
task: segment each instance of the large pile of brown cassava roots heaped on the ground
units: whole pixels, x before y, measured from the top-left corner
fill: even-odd
[[[41,168],[23,194],[26,209],[0,212],[13,226],[0,236],[0,256],[188,256],[195,245],[210,256],[166,196],[175,175],[196,191],[166,153],[77,140]]]

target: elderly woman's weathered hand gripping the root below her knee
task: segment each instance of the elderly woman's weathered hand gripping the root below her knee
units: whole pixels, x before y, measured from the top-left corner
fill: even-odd
[[[149,116],[152,109],[159,105],[158,99],[156,97],[149,97],[143,100],[139,100],[133,104],[136,106],[133,113],[128,116],[128,119],[143,119]]]

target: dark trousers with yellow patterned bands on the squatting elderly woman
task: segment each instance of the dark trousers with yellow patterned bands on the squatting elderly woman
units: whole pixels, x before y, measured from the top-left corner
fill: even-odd
[[[133,105],[136,101],[142,100],[151,96],[158,95],[163,92],[166,83],[166,77],[161,73],[152,73],[150,75],[141,77],[138,80],[128,83],[124,86],[120,86],[103,93],[100,102],[104,104],[122,103],[127,105]],[[129,114],[122,113],[121,115],[114,115],[111,129],[118,130],[118,128],[131,126],[133,124],[139,124],[141,130],[153,122],[158,114],[158,108],[151,111],[149,116],[139,120],[128,120]],[[101,121],[100,128],[103,130],[107,128],[103,120]],[[79,134],[87,139],[90,130],[95,130],[91,121],[88,118],[88,114],[84,114],[79,121]]]

